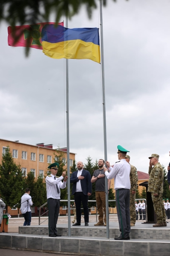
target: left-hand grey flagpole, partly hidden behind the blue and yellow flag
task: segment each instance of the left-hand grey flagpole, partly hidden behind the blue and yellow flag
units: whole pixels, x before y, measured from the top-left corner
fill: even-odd
[[[66,15],[66,28],[68,28],[68,17]],[[66,123],[67,123],[67,194],[68,194],[68,236],[71,236],[70,221],[70,166],[69,166],[69,62],[66,59]]]

